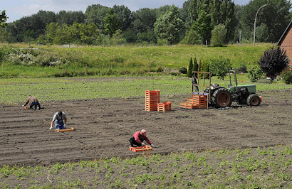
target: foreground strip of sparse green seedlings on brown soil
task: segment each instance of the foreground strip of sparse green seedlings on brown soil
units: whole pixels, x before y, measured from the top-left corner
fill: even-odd
[[[1,166],[0,187],[291,188],[291,157],[291,147],[274,146]]]

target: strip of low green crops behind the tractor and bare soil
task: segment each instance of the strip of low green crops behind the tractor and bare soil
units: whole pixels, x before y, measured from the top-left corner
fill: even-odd
[[[213,83],[226,86],[229,82],[212,78]],[[239,85],[254,84],[245,75],[239,76]],[[292,88],[283,82],[255,83],[258,91]],[[28,95],[40,101],[95,99],[112,97],[144,97],[145,90],[160,90],[161,95],[188,95],[192,81],[187,77],[78,77],[71,78],[11,78],[0,80],[0,104],[19,104]],[[260,93],[259,93],[260,95]]]

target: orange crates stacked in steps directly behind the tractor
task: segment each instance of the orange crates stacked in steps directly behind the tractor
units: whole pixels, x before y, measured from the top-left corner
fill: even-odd
[[[179,107],[194,109],[194,108],[206,108],[206,96],[205,95],[193,95],[192,98],[188,98],[187,102],[180,102]]]

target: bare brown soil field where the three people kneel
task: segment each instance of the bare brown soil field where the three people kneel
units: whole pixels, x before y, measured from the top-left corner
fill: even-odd
[[[259,107],[182,109],[187,95],[161,96],[170,112],[146,112],[145,97],[41,102],[43,109],[1,105],[0,162],[4,165],[50,165],[68,161],[138,156],[129,150],[135,131],[147,130],[155,144],[151,153],[208,149],[291,146],[292,90],[258,92]],[[67,127],[49,130],[53,114],[63,111]]]

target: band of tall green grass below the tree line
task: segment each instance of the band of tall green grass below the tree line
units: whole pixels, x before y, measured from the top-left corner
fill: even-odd
[[[229,58],[234,68],[256,63],[272,44],[256,47],[229,45],[206,48],[194,45],[147,47],[9,48],[1,63],[1,77],[75,77],[88,75],[170,75],[187,68],[190,58],[207,63],[211,58]],[[2,47],[6,48],[6,47]],[[15,60],[18,56],[21,60]],[[24,57],[30,59],[23,60]],[[22,61],[22,62],[21,62]],[[160,72],[164,70],[164,72]]]

